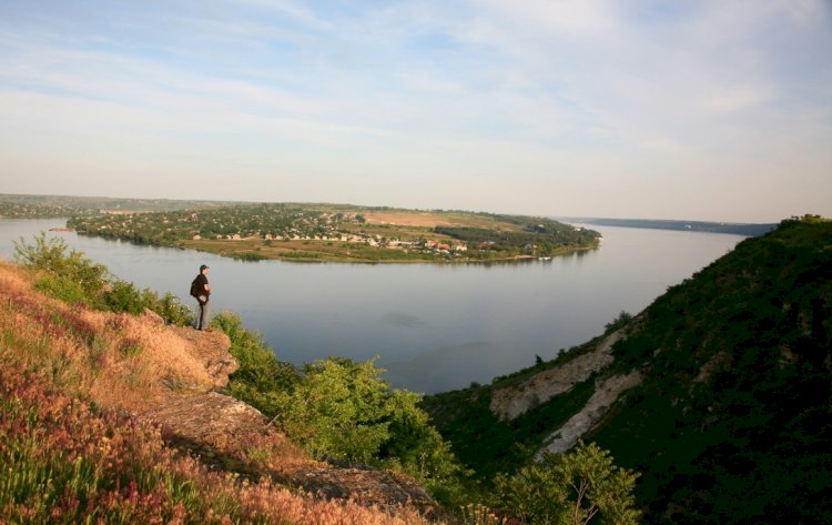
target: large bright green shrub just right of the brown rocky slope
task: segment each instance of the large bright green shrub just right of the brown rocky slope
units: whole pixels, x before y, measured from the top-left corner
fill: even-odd
[[[418,407],[418,394],[390,390],[373,360],[329,357],[304,372],[285,407],[290,437],[315,456],[403,471],[436,499],[461,501],[467,473]]]

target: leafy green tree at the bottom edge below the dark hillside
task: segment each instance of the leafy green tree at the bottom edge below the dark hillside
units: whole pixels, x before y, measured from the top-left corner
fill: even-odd
[[[632,489],[638,474],[612,464],[595,444],[545,454],[511,477],[497,476],[497,507],[529,525],[631,525],[640,513]]]

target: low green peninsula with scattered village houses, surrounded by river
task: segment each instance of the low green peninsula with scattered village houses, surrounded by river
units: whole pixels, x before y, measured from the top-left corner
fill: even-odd
[[[552,219],[347,204],[235,203],[73,215],[80,234],[241,260],[485,262],[598,246],[600,233]]]

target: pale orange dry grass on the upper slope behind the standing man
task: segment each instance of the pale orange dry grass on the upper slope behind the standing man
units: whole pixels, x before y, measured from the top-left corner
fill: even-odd
[[[65,386],[101,406],[133,410],[159,397],[165,378],[210,384],[191,343],[165,326],[69,305],[33,291],[31,281],[28,272],[0,264],[4,340],[12,350],[29,349],[17,355],[23,362],[50,363]]]

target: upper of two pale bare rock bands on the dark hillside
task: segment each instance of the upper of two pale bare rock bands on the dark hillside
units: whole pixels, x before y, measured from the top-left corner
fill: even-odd
[[[620,330],[612,332],[595,350],[535,374],[518,385],[495,391],[491,395],[491,412],[503,420],[514,420],[532,406],[568,392],[612,362],[612,345],[622,335]]]

